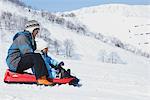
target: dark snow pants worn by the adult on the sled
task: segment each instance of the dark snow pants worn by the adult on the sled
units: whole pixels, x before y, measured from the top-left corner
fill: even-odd
[[[45,62],[39,53],[25,54],[18,64],[17,72],[23,73],[24,70],[32,67],[34,68],[36,79],[40,78],[41,76],[48,76]]]

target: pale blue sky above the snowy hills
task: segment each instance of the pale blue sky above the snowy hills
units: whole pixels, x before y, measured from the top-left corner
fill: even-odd
[[[149,0],[21,0],[35,9],[50,12],[62,12],[79,9],[82,7],[96,6],[110,3],[123,3],[130,5],[147,5]]]

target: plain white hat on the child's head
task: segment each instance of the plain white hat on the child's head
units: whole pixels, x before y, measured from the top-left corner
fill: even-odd
[[[45,48],[48,48],[48,43],[42,38],[36,38],[36,51],[41,51]]]

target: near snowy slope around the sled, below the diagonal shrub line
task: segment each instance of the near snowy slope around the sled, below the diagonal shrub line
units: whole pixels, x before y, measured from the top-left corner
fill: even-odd
[[[27,13],[13,4],[0,2],[0,11],[5,7],[14,7],[14,13],[39,20],[52,34],[49,36],[63,41],[71,39],[75,45],[75,58],[66,59],[55,56],[65,62],[65,68],[81,79],[81,87],[61,85],[44,87],[24,84],[5,84],[3,76],[7,65],[5,58],[14,33],[4,32],[0,41],[0,99],[1,100],[149,100],[150,99],[150,60],[114,46],[102,43],[92,37],[76,34],[64,26],[48,23],[41,16]],[[11,12],[11,9],[7,9]],[[81,10],[82,11],[82,10]],[[12,11],[13,12],[13,11]],[[81,20],[82,21],[82,20]],[[90,23],[90,22],[89,22]],[[96,26],[95,26],[96,27]],[[108,27],[109,28],[109,27]],[[90,29],[90,28],[89,28]],[[4,34],[3,33],[3,34]],[[124,40],[125,41],[125,40]],[[120,57],[120,64],[104,63],[100,60],[101,52],[105,56],[111,52]],[[109,57],[109,56],[107,56]],[[107,58],[106,57],[106,58]],[[117,62],[118,63],[118,62]]]

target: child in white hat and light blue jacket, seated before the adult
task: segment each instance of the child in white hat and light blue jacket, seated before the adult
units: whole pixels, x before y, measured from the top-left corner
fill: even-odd
[[[70,75],[70,69],[65,70],[62,66],[64,66],[64,62],[58,62],[57,60],[48,56],[48,44],[41,38],[36,39],[37,50],[35,52],[41,53],[45,64],[48,69],[49,78],[69,78],[72,77]]]

